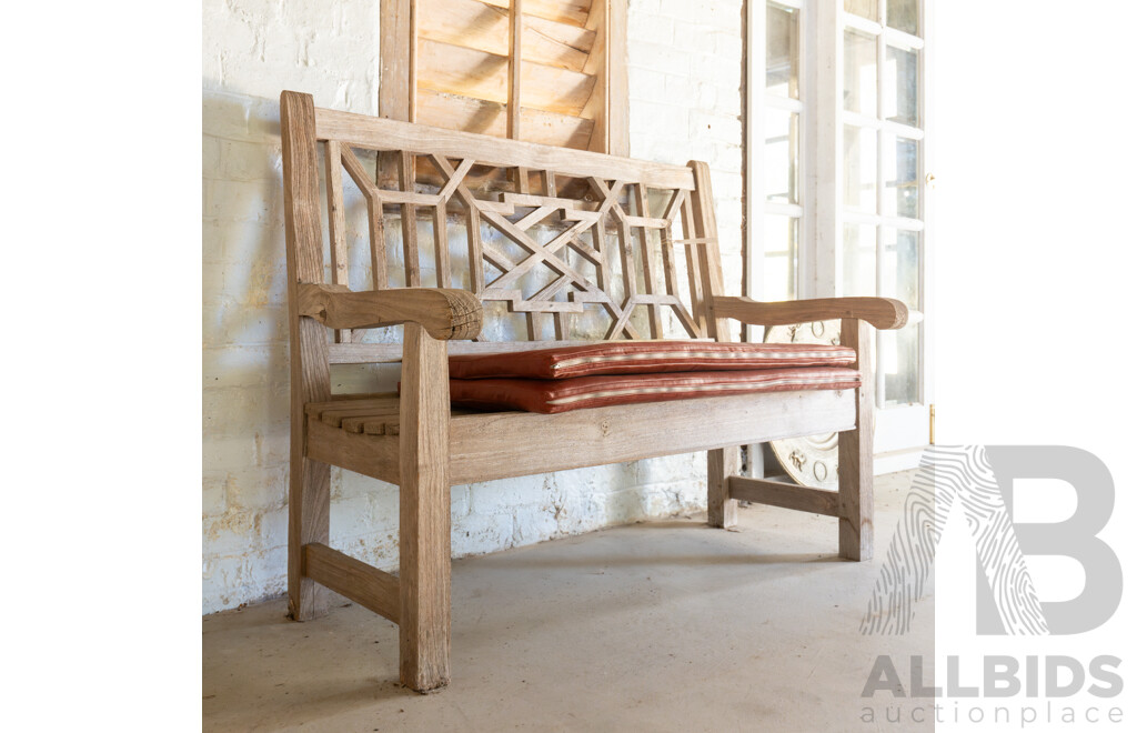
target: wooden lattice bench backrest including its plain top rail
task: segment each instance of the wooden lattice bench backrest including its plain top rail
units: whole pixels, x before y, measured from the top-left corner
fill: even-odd
[[[316,127],[333,283],[470,290],[485,341],[714,335],[717,247],[691,168],[322,109]],[[396,172],[380,183],[376,152]],[[345,191],[365,202],[363,236]]]

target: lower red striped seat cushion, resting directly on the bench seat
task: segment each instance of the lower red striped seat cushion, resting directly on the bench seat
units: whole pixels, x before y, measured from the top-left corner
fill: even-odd
[[[856,369],[832,367],[603,375],[573,380],[450,380],[450,401],[479,409],[551,414],[745,392],[845,390],[860,384]]]

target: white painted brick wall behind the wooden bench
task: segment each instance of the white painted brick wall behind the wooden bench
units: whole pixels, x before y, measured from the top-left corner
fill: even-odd
[[[711,165],[732,292],[741,273],[741,0],[629,2],[632,156]],[[321,107],[374,115],[379,2],[206,0],[202,33],[202,613],[211,613],[285,588],[289,377],[276,99],[293,89]],[[334,378],[346,385],[374,376],[357,369]],[[456,486],[454,553],[698,511],[705,490],[702,455]],[[393,569],[397,519],[393,486],[332,470],[333,544]]]

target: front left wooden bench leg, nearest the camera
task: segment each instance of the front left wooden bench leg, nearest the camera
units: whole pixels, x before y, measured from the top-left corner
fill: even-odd
[[[399,680],[450,682],[450,391],[446,342],[406,324],[399,403]]]

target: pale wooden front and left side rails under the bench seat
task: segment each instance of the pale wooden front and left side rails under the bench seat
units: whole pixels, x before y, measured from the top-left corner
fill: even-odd
[[[312,403],[306,413],[309,456],[399,483],[397,395]],[[853,426],[854,390],[708,397],[557,415],[454,409],[449,475],[454,485],[467,484]]]

